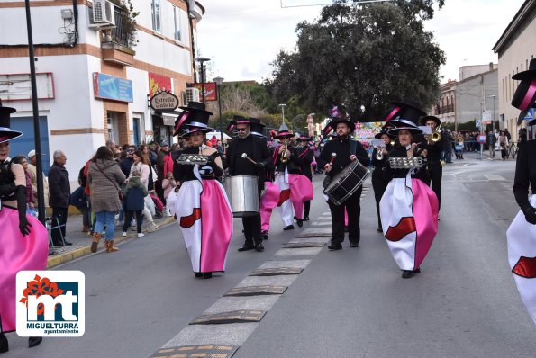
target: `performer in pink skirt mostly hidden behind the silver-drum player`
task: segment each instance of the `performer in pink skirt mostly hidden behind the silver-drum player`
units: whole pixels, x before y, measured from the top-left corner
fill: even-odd
[[[268,142],[266,136],[263,133],[264,124],[260,123],[260,120],[257,118],[250,118],[250,128],[251,135],[259,137],[264,142],[264,146],[268,147]],[[273,150],[272,148],[268,148]],[[260,179],[264,180],[264,189],[260,195],[260,237],[263,240],[268,240],[269,229],[270,229],[270,218],[272,216],[272,210],[277,206],[279,201],[279,194],[281,191],[279,187],[274,183],[274,166],[271,162],[268,162],[268,166],[259,172]]]

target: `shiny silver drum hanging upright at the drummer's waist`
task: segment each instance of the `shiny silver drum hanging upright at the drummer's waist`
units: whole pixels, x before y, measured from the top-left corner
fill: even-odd
[[[244,218],[259,214],[259,178],[252,175],[228,176],[223,182],[231,202],[232,216]]]

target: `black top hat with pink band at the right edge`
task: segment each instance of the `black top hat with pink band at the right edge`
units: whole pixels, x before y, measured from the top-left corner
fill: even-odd
[[[512,105],[521,110],[517,119],[517,125],[519,126],[527,116],[527,112],[531,110],[531,107],[536,106],[536,58],[531,59],[531,65],[528,70],[522,71],[512,76],[512,78],[521,80],[512,97]],[[534,124],[534,121],[528,123],[528,125],[532,124]]]

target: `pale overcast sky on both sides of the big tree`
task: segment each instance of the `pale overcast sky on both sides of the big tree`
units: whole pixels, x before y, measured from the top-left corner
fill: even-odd
[[[199,54],[211,58],[208,78],[262,81],[281,49],[295,49],[295,27],[314,22],[329,0],[198,0],[205,8],[197,25]],[[441,83],[459,79],[459,67],[497,62],[493,47],[524,0],[445,0],[425,22],[445,52]]]

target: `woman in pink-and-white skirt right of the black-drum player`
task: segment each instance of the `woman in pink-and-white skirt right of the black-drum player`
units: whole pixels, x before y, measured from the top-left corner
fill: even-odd
[[[422,133],[417,121],[425,113],[416,106],[405,106],[393,122],[395,128],[388,130],[396,135],[398,143],[389,152],[388,158],[420,157],[420,149],[414,143]],[[419,170],[385,166],[386,178],[390,179],[380,201],[380,216],[387,245],[396,264],[403,271],[404,279],[420,273],[420,266],[438,229],[438,201],[435,193],[422,179],[427,176],[426,167]]]

